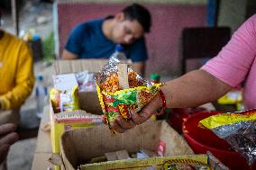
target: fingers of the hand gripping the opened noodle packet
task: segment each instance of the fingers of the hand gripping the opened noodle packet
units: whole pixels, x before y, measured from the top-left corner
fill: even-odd
[[[148,103],[141,112],[132,113],[132,118],[128,121],[124,120],[123,117],[118,114],[115,116],[113,122],[110,123],[110,126],[113,130],[123,133],[126,130],[133,129],[136,125],[142,124],[144,121],[147,121],[151,118],[151,115],[157,112],[157,109],[160,108],[160,95],[158,94],[151,103]],[[102,121],[106,124],[105,115],[102,117]]]

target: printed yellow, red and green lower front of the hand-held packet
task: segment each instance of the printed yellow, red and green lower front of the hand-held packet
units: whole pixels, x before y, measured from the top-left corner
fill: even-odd
[[[161,85],[137,86],[114,93],[106,93],[96,84],[98,98],[102,110],[105,113],[109,129],[114,133],[114,130],[111,129],[110,122],[114,121],[114,117],[117,114],[128,120],[131,118],[131,111],[140,112],[158,94]]]

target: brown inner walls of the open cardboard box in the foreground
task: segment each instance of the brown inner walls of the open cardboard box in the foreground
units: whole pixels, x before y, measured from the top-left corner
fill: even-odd
[[[166,121],[147,121],[133,130],[115,135],[110,133],[105,125],[69,130],[62,135],[60,145],[62,164],[66,170],[77,169],[93,157],[123,149],[136,153],[143,148],[160,152],[164,157],[193,154],[186,140]],[[125,167],[128,160],[124,160],[119,166]],[[96,166],[94,169],[107,169],[113,165],[114,161],[107,161],[103,164],[87,164],[81,166],[81,169],[87,169],[89,166]]]

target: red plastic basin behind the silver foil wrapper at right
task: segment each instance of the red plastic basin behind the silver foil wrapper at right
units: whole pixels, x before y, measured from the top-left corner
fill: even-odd
[[[246,159],[231,150],[230,145],[224,139],[218,138],[211,130],[198,127],[199,121],[217,113],[219,112],[197,112],[187,117],[187,120],[183,122],[182,130],[188,145],[196,154],[206,154],[209,150],[232,170],[255,170],[255,162],[252,167],[248,166]]]

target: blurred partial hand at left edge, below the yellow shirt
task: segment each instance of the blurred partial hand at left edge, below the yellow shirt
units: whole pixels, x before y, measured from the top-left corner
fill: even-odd
[[[14,132],[16,128],[13,123],[0,125],[0,164],[7,157],[11,145],[19,139],[18,134]]]

